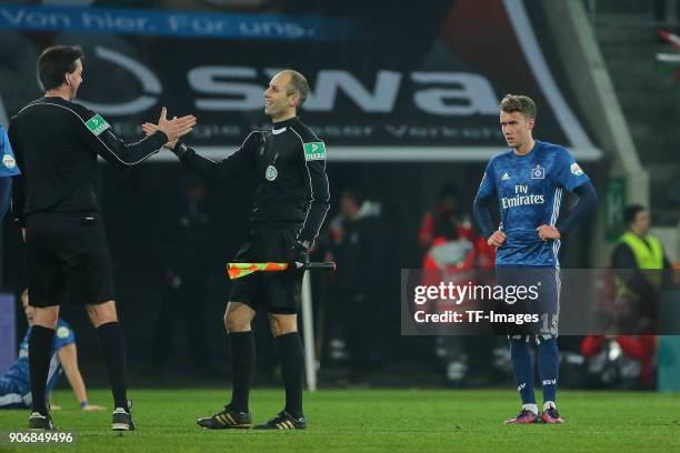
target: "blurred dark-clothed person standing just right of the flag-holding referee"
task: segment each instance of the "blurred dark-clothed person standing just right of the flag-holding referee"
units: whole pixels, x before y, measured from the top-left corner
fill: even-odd
[[[330,323],[340,319],[349,353],[350,384],[367,382],[376,360],[383,256],[380,204],[364,200],[353,188],[340,197],[340,213],[330,224],[331,252],[338,271]],[[331,339],[332,341],[332,339]]]

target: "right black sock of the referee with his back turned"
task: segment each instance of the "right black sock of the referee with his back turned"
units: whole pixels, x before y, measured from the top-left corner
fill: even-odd
[[[114,407],[128,410],[126,390],[126,343],[118,321],[107,322],[97,328],[101,354],[107,364]]]

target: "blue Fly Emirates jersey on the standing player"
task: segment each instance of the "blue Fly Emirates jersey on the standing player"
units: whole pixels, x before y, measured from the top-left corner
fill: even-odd
[[[560,265],[560,241],[541,241],[537,228],[554,225],[563,191],[590,181],[563,147],[536,140],[528,154],[514,150],[489,161],[480,200],[498,199],[506,242],[496,251],[496,265]]]

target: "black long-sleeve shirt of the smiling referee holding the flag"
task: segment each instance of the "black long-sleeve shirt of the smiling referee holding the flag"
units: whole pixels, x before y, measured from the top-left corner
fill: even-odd
[[[326,144],[297,117],[274,123],[271,131],[251,132],[237,152],[219,162],[191,148],[174,150],[183,163],[209,180],[254,172],[251,224],[301,223],[300,241],[311,242],[319,234],[330,207]]]

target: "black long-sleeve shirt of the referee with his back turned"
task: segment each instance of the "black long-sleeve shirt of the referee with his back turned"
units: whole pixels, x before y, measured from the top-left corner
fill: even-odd
[[[168,141],[159,131],[126,144],[100,115],[57,97],[21,109],[8,134],[21,170],[12,193],[21,224],[36,212],[98,211],[97,155],[117,167],[134,165]]]

